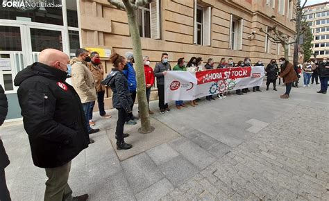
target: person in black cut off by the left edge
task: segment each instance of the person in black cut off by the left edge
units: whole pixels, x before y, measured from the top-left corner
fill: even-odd
[[[5,121],[8,112],[8,102],[5,91],[0,85],[0,125]],[[3,147],[0,134],[0,200],[1,201],[10,201],[10,194],[6,184],[6,175],[5,168],[10,163],[6,150]]]

